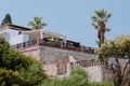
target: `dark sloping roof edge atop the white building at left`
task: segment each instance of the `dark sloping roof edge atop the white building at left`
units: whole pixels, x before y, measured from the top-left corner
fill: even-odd
[[[30,28],[22,27],[22,26],[17,26],[17,25],[12,25],[12,24],[6,24],[6,25],[4,25],[4,26],[0,26],[0,28],[4,28],[4,27],[10,27],[11,29],[22,30],[22,31],[31,30]]]

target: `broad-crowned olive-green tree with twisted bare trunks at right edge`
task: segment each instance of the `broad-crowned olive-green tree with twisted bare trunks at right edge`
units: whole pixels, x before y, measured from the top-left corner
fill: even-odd
[[[103,59],[113,57],[115,63],[114,82],[116,86],[123,86],[126,83],[130,83],[128,75],[130,75],[130,35],[120,35],[115,39],[105,41],[100,48],[96,49]],[[125,67],[120,63],[119,59],[127,59]]]

